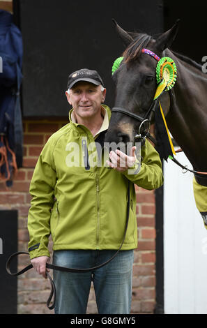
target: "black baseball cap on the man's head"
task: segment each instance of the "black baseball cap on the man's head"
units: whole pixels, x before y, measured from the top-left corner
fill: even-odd
[[[75,72],[71,73],[68,76],[68,84],[67,89],[71,89],[73,85],[79,81],[87,81],[91,82],[95,85],[100,85],[104,87],[104,84],[102,82],[102,78],[96,72],[96,70],[89,70],[88,68],[82,68],[80,70],[75,70]]]

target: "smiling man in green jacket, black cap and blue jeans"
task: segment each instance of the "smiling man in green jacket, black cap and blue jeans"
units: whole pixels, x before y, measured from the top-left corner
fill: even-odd
[[[130,219],[121,251],[94,271],[54,271],[55,313],[86,313],[91,281],[98,313],[130,313],[133,250],[137,248],[134,184],[154,189],[163,182],[160,157],[149,142],[141,149],[143,161],[136,174],[128,173],[138,165],[135,147],[130,156],[111,151],[105,163],[102,146],[111,115],[109,107],[102,105],[105,96],[95,70],[84,68],[69,75],[70,123],[49,138],[31,180],[29,253],[33,267],[45,278],[49,234],[53,262],[62,267],[95,267],[116,253],[125,228],[128,180],[132,181]]]

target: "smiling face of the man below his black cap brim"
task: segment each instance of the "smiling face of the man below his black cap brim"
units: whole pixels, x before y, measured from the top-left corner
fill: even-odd
[[[82,119],[95,117],[100,113],[100,105],[104,102],[106,90],[101,91],[100,85],[90,82],[77,82],[70,94],[66,93],[68,103],[72,105],[75,114]]]

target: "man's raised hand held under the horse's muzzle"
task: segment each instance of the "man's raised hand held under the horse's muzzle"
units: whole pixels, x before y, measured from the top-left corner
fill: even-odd
[[[110,151],[109,158],[111,162],[107,161],[107,164],[119,172],[124,172],[125,170],[128,170],[130,167],[135,165],[135,161],[137,159],[135,150],[136,146],[133,146],[130,149],[130,156],[124,154],[118,149],[116,149],[116,151]]]

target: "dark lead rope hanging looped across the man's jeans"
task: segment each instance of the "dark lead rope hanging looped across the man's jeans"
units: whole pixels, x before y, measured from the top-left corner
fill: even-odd
[[[54,264],[49,264],[46,263],[46,268],[48,269],[53,269],[53,270],[58,270],[58,271],[65,271],[65,272],[79,272],[79,273],[83,273],[83,272],[88,272],[88,271],[93,271],[96,269],[99,269],[100,267],[103,267],[104,265],[108,264],[109,262],[111,262],[115,256],[118,254],[118,252],[121,250],[121,247],[123,246],[123,242],[125,241],[125,235],[128,229],[128,222],[129,222],[129,217],[130,217],[130,184],[131,182],[128,180],[128,204],[127,204],[127,219],[126,219],[126,223],[125,223],[125,231],[123,234],[123,240],[121,242],[121,246],[118,248],[118,251],[116,251],[116,253],[114,253],[114,255],[112,256],[112,258],[109,258],[109,260],[107,260],[106,262],[96,266],[96,267],[91,267],[91,268],[86,268],[86,269],[75,269],[75,268],[69,268],[69,267],[59,267],[58,265],[54,265]],[[20,274],[24,274],[24,272],[28,271],[29,269],[33,268],[32,264],[29,264],[27,267],[24,267],[24,269],[17,271],[17,272],[11,272],[10,271],[10,262],[18,255],[21,254],[26,254],[29,255],[29,253],[27,252],[17,252],[17,253],[13,253],[13,255],[10,256],[10,258],[8,258],[8,261],[6,262],[6,271],[8,272],[8,274],[10,274],[11,276],[20,276]],[[55,305],[55,301],[56,301],[56,288],[54,285],[54,281],[52,280],[52,277],[49,275],[49,273],[46,271],[46,275],[47,278],[49,278],[49,283],[50,283],[50,295],[47,299],[47,308],[49,308],[49,310],[52,310],[54,308]],[[52,301],[52,297],[53,297],[53,301]],[[50,302],[52,301],[52,304],[50,304]]]

